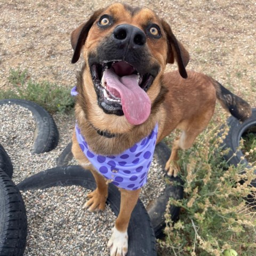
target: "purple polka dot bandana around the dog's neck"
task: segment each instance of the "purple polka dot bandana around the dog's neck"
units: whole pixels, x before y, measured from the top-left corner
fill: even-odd
[[[158,125],[144,139],[115,156],[101,156],[88,147],[76,124],[76,138],[83,153],[95,169],[119,188],[137,190],[147,183],[157,138]]]

